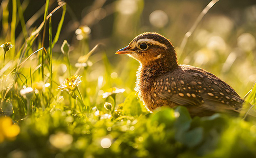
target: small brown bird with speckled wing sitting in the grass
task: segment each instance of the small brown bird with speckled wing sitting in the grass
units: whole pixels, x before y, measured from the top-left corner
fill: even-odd
[[[186,106],[191,116],[215,112],[238,114],[244,100],[226,82],[204,69],[179,65],[172,43],[146,32],[116,51],[140,62],[136,87],[150,111],[160,106]]]

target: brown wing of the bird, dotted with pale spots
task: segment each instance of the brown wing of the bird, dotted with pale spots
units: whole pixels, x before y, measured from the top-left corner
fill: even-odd
[[[154,86],[158,97],[178,105],[192,105],[216,112],[239,112],[244,103],[227,83],[190,65],[158,77]]]

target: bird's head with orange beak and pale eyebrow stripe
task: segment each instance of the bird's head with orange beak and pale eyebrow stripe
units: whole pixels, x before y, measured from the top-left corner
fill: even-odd
[[[131,56],[142,65],[161,63],[161,61],[177,64],[177,55],[172,43],[158,33],[140,34],[127,47],[116,51],[116,54]]]

